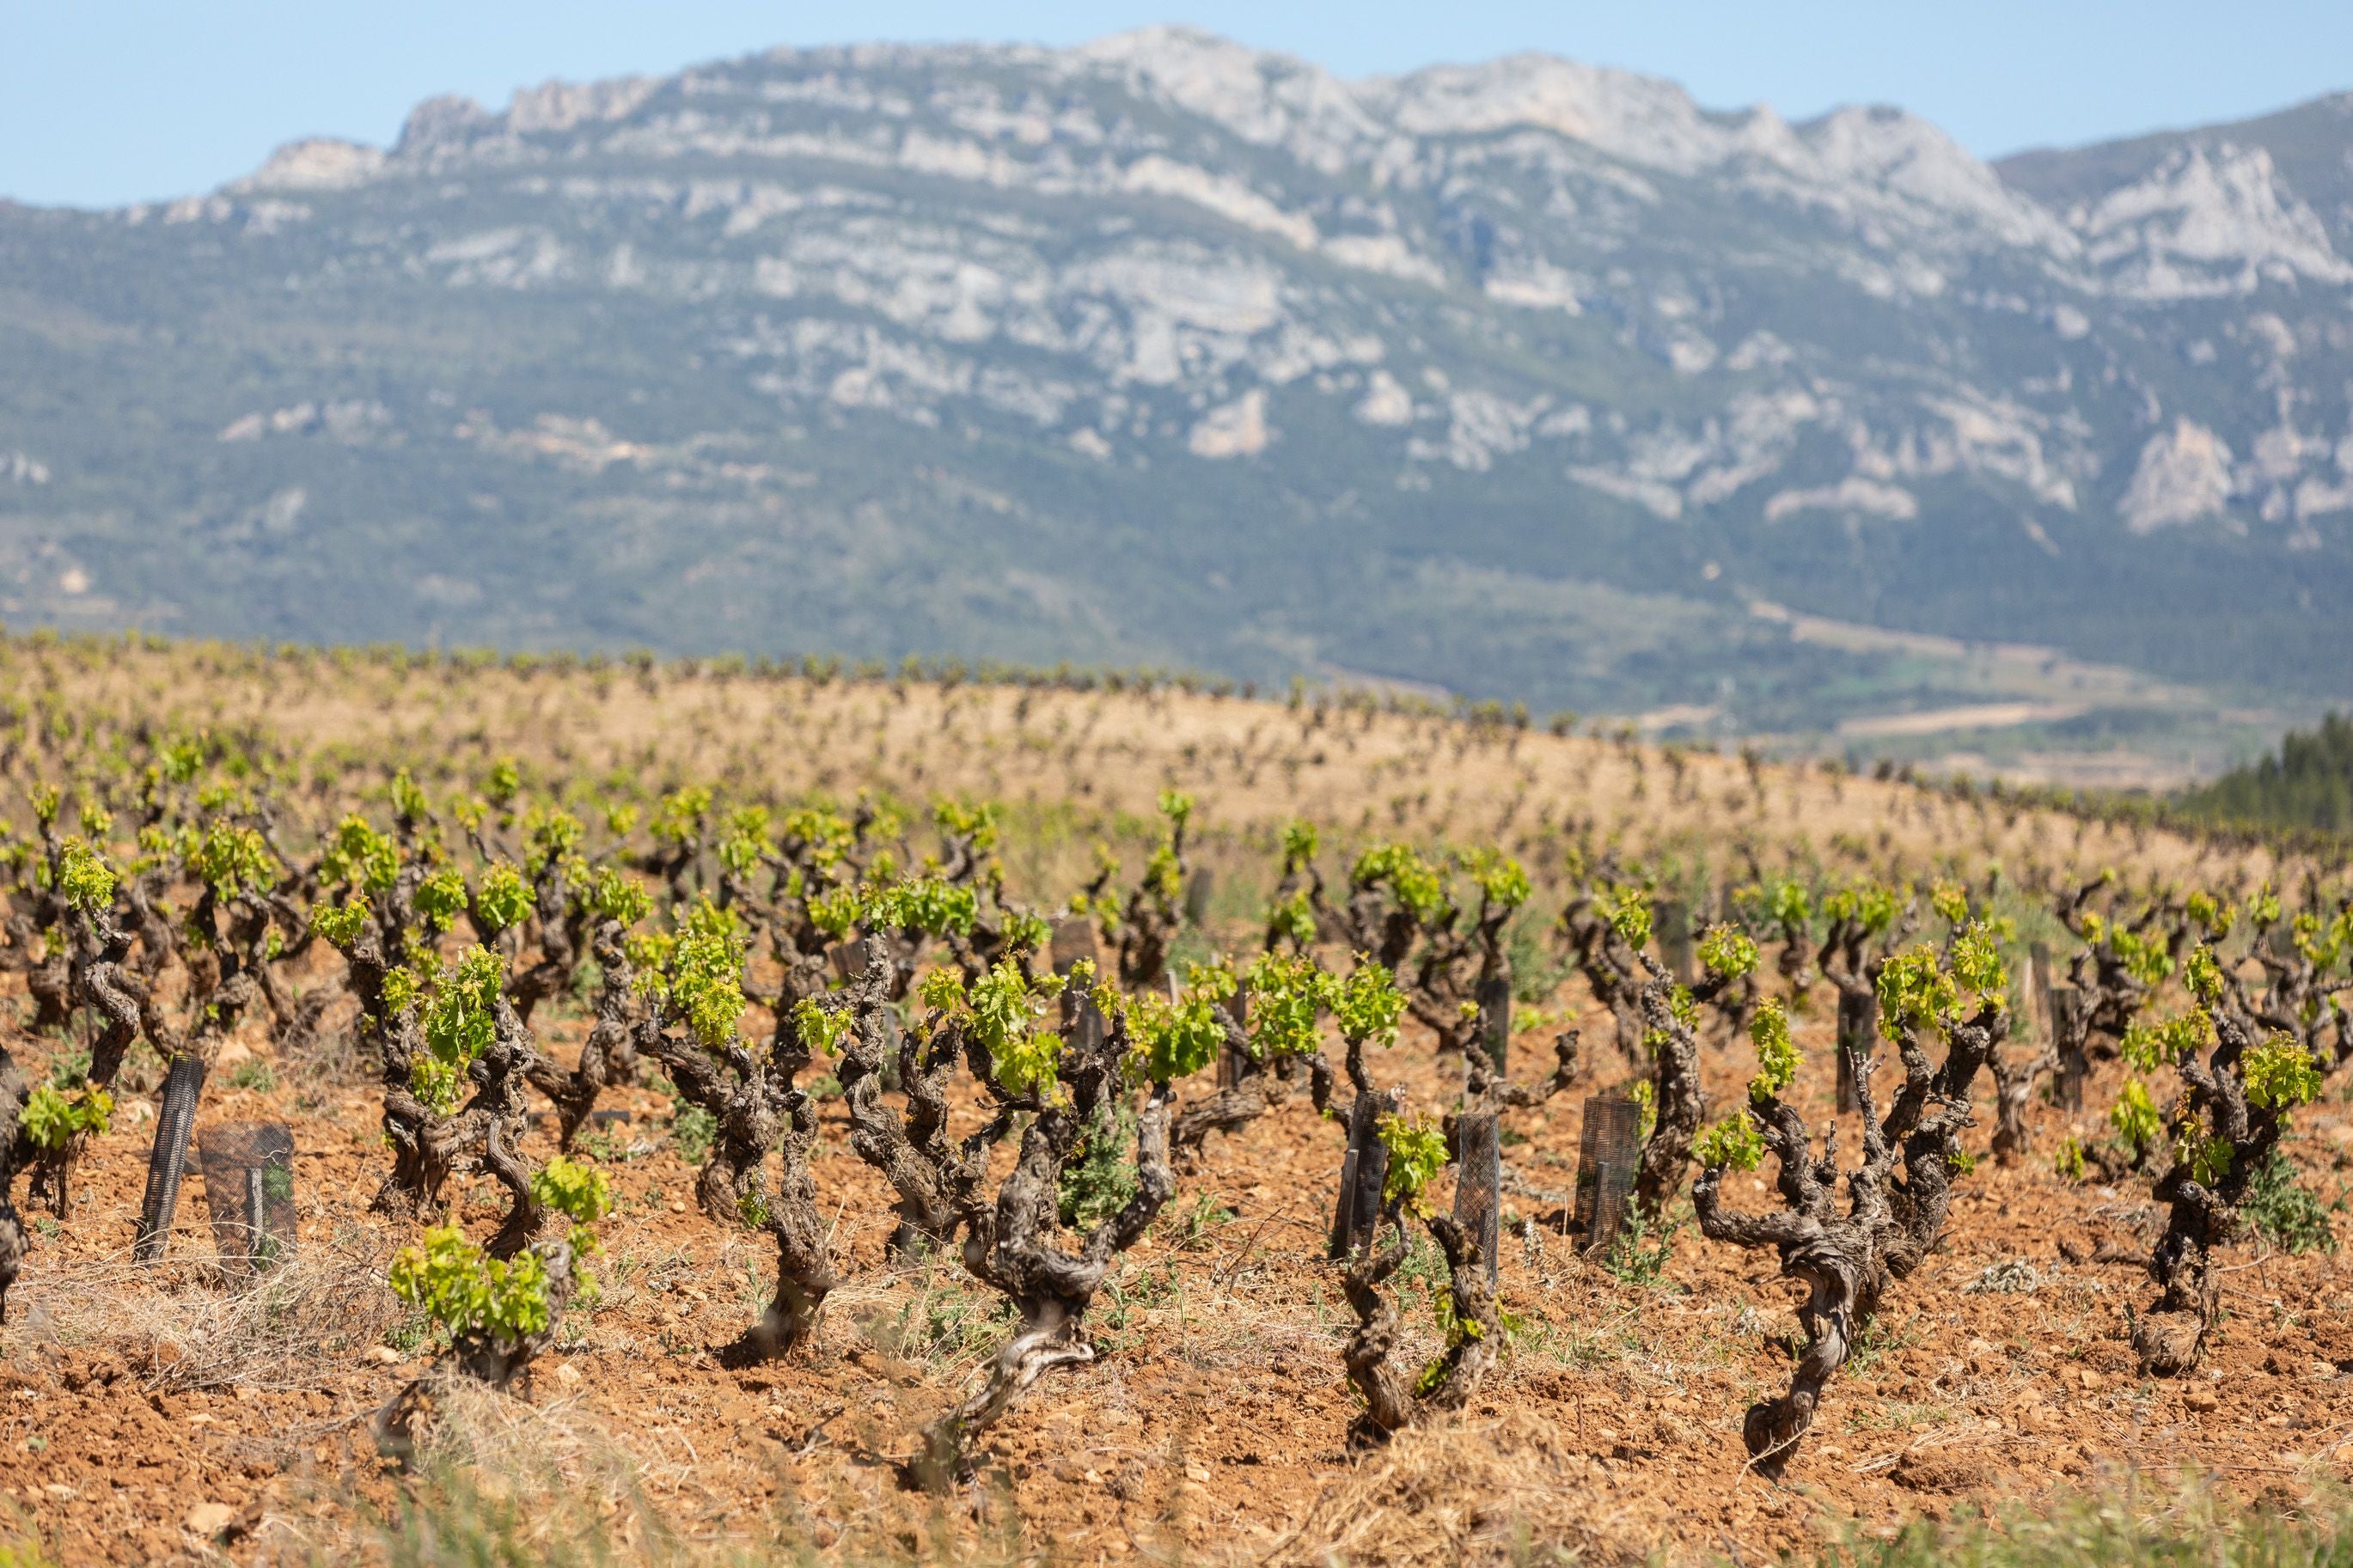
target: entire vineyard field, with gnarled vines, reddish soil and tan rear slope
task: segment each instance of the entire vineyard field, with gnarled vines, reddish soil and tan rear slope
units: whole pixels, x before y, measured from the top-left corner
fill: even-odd
[[[2313,839],[1162,675],[0,693],[0,1563],[1767,1561],[2348,1476]]]

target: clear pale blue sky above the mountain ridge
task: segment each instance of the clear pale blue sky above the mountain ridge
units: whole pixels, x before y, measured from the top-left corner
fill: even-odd
[[[207,190],[296,136],[384,143],[419,99],[854,40],[1078,42],[1186,21],[1344,75],[1548,49],[1798,120],[1899,103],[1981,155],[2353,87],[2353,0],[0,0],[0,195]]]

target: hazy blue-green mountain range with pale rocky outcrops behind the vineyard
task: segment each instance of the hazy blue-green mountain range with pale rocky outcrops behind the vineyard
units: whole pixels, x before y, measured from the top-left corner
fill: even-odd
[[[1995,169],[1899,110],[1184,31],[438,99],[0,209],[0,609],[1732,729],[1986,693],[1809,614],[2329,696],[2348,103]]]

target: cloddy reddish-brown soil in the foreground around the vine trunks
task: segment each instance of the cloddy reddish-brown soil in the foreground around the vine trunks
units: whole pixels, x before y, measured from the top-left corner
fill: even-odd
[[[1800,1025],[1802,1103],[1824,1112],[1826,1013],[1824,992]],[[551,1020],[548,1048],[567,1056],[579,1030],[576,1016]],[[1600,1044],[1602,1020],[1586,1039],[1581,1091],[1624,1072]],[[1548,1058],[1532,1034],[1518,1051],[1522,1074]],[[153,1126],[141,1100],[125,1100],[92,1147],[73,1213],[35,1237],[9,1298],[0,1509],[14,1505],[16,1526],[66,1563],[332,1556],[372,1540],[398,1502],[369,1415],[426,1359],[400,1349],[414,1328],[384,1286],[412,1227],[367,1213],[386,1168],[372,1086],[304,1081],[278,1063],[278,1086],[259,1093],[231,1086],[233,1070],[216,1070],[202,1121],[282,1117],[299,1143],[299,1260],[275,1309],[240,1307],[207,1276],[193,1171],[172,1260],[129,1262]],[[1414,1034],[1377,1060],[1428,1112],[1457,1070],[1440,1072]],[[1748,1070],[1746,1048],[1708,1053],[1720,1100]],[[2108,1103],[2104,1088],[2094,1079],[2092,1105]],[[1511,1561],[1532,1544],[1595,1561],[1654,1549],[1760,1561],[1849,1526],[2033,1500],[2106,1467],[2212,1472],[2249,1495],[2348,1474],[2353,1293],[2339,1260],[2235,1248],[2228,1321],[2205,1368],[2144,1380],[2127,1314],[2148,1284],[2101,1258],[2146,1251],[2158,1222],[2146,1182],[2052,1175],[2064,1121],[2040,1107],[2038,1152],[2012,1168],[1981,1159],[1958,1185],[1941,1251],[1885,1305],[1786,1481],[1767,1483],[1744,1472],[1739,1422],[1786,1380],[1788,1288],[1769,1255],[1713,1246],[1689,1225],[1652,1281],[1577,1258],[1551,1194],[1572,1187],[1579,1100],[1506,1112],[1501,1293],[1520,1321],[1508,1354],[1468,1413],[1386,1453],[1344,1446],[1348,1312],[1322,1262],[1341,1138],[1304,1098],[1214,1138],[1181,1173],[1155,1232],[1096,1300],[1099,1359],[1040,1382],[988,1441],[981,1481],[934,1514],[899,1486],[894,1460],[993,1347],[991,1298],[953,1260],[885,1262],[887,1194],[849,1154],[835,1100],[816,1185],[842,1286],[814,1347],[725,1368],[715,1349],[755,1316],[774,1258],[692,1211],[671,1107],[647,1088],[607,1098],[631,1119],[598,1145],[619,1194],[600,1227],[600,1300],[574,1312],[527,1389],[452,1389],[431,1441],[471,1462],[489,1497],[567,1497],[612,1514],[626,1540],[659,1516],[689,1542],[788,1535],[861,1559],[948,1542],[1073,1561],[1174,1549]],[[2344,1185],[2346,1135],[2337,1093],[2299,1121],[2292,1150],[2322,1197]],[[1727,1185],[1737,1201],[1765,1201],[1762,1182]],[[487,1185],[454,1182],[454,1197],[487,1232]],[[1522,1234],[1520,1218],[1537,1227]],[[2019,1260],[2031,1291],[1969,1291]],[[1435,1347],[1426,1298],[1407,1316]]]

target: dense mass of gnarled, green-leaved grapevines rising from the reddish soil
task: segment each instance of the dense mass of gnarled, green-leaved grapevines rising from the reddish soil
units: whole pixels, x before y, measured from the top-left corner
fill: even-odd
[[[1532,877],[1494,846],[1341,846],[1294,823],[1247,933],[1219,947],[1209,825],[1176,790],[1141,863],[1104,849],[1075,886],[1016,893],[1005,811],[972,799],[729,799],[508,762],[428,790],[136,729],[19,731],[5,773],[0,964],[56,1051],[40,1074],[0,1051],[0,1312],[40,1267],[16,1194],[71,1215],[134,1051],[162,1065],[132,1239],[155,1258],[224,1044],[261,1032],[301,1058],[344,1032],[381,1091],[374,1208],[414,1227],[391,1288],[452,1368],[508,1385],[595,1291],[612,1194],[581,1133],[607,1091],[652,1077],[708,1117],[699,1211],[774,1248],[774,1298],[727,1354],[793,1356],[838,1284],[812,1173],[826,1093],[892,1192],[845,1222],[960,1260],[1012,1307],[984,1375],[915,1434],[911,1472],[934,1486],[1042,1378],[1094,1359],[1094,1298],[1207,1140],[1247,1140],[1294,1098],[1332,1121],[1334,1171],[1344,1143],[1379,1171],[1334,1232],[1355,1441],[1475,1396],[1508,1338],[1494,1237],[1435,1194],[1478,1180],[1480,1119],[1560,1114],[1588,1084],[1640,1107],[1635,1227],[1687,1201],[1711,1244],[1772,1253],[1805,1288],[1788,1389],[1746,1415],[1777,1472],[1981,1154],[2146,1182],[2167,1222],[2134,1347],[2160,1375],[2195,1366],[2217,1248],[2289,1114],[2353,1058],[2353,912],[2318,882],[2026,886],[1991,863],[1826,875],[1755,856],[1711,872],[1593,835]],[[1835,1110],[1793,1088],[1824,992]],[[534,1030],[565,1006],[591,1018],[572,1060]],[[1548,1034],[1537,1074],[1508,1053],[1529,1034]],[[1445,1105],[1409,1107],[1405,1041],[1461,1084]],[[1753,1077],[1711,1103],[1701,1063],[1727,1051]],[[2038,1150],[2028,1112],[2101,1063],[2122,1065],[2108,1135]],[[1767,1159],[1767,1204],[1734,1204],[1727,1175]],[[1073,1206],[1106,1164],[1115,1201]],[[452,1178],[473,1175],[504,1192],[487,1234],[449,1218]],[[1405,1359],[1395,1291],[1417,1232],[1447,1272],[1426,1363]],[[405,1420],[395,1401],[386,1436]]]

